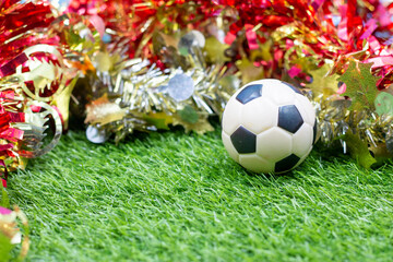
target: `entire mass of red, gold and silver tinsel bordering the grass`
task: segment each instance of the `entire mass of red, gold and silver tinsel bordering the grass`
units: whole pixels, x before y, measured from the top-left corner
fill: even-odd
[[[392,47],[389,1],[3,0],[2,186],[57,144],[70,117],[94,143],[178,124],[204,133],[241,84],[266,78],[298,86],[320,141],[369,168],[393,156]],[[10,245],[17,216],[26,224],[0,210]]]

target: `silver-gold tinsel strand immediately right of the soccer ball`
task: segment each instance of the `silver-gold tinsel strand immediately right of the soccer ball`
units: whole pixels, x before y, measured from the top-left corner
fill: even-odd
[[[379,116],[370,109],[349,110],[350,100],[333,95],[329,98],[313,97],[319,119],[320,140],[332,145],[340,141],[344,153],[358,152],[359,146],[368,148],[361,155],[354,155],[359,165],[369,168],[380,159],[391,158],[393,116]],[[354,139],[358,138],[354,144]],[[369,160],[376,158],[374,160]]]

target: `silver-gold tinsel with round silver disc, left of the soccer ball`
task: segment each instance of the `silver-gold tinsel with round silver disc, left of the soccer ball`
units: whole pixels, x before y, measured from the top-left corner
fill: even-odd
[[[96,69],[91,72],[95,75],[86,75],[95,97],[86,107],[90,141],[102,143],[115,133],[119,142],[134,130],[169,124],[199,133],[213,130],[207,117],[219,116],[238,87],[235,70],[224,62],[206,63],[207,43],[195,29],[178,36],[154,33],[152,43],[160,63],[121,58],[122,46],[114,43],[90,56]],[[225,56],[224,50],[218,55]],[[229,82],[236,84],[226,85]]]

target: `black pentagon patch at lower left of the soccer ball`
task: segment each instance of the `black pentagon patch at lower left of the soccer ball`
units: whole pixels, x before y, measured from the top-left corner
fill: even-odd
[[[241,126],[230,135],[230,141],[239,154],[255,153],[257,135]]]

